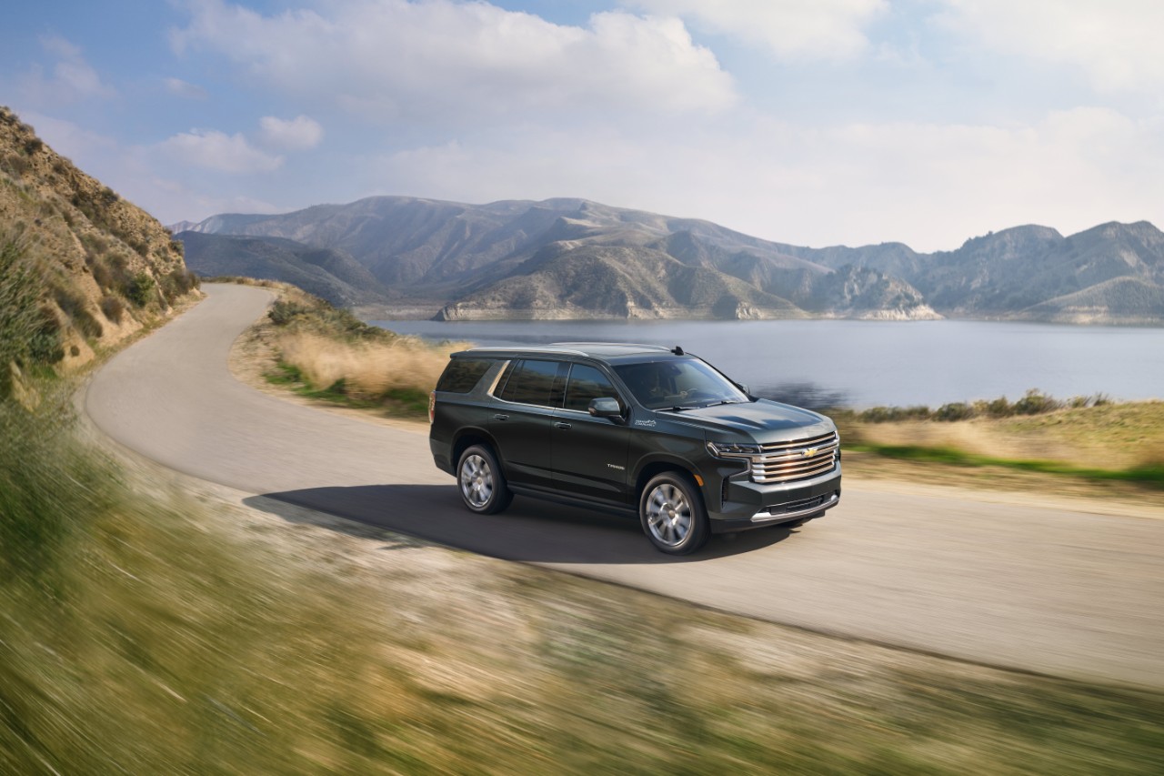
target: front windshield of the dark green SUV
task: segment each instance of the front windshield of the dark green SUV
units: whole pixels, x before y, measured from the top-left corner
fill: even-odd
[[[634,398],[648,409],[693,409],[748,401],[730,380],[698,359],[615,367]]]

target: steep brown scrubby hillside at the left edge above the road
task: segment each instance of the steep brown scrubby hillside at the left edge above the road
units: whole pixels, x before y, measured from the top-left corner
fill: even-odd
[[[34,352],[17,353],[17,362],[84,364],[94,348],[169,315],[196,283],[169,230],[8,108],[0,108],[0,248],[10,260],[6,276],[28,274],[37,297]]]

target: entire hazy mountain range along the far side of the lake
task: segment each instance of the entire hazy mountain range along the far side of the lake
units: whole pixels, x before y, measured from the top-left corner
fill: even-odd
[[[808,248],[584,199],[370,197],[171,227],[200,274],[286,280],[442,319],[1164,320],[1164,233],[1017,226],[957,251]]]

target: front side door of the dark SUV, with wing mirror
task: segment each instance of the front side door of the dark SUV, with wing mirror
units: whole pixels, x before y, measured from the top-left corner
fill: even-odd
[[[572,365],[565,403],[554,421],[554,487],[572,495],[626,503],[631,430],[625,423],[592,417],[587,411],[591,400],[602,397],[618,400],[625,411],[626,401],[602,369]]]

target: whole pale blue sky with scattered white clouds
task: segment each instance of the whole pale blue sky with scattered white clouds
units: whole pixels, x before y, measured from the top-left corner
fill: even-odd
[[[0,104],[164,224],[581,197],[823,247],[1164,226],[1159,0],[41,0]]]

